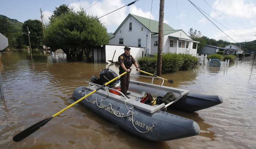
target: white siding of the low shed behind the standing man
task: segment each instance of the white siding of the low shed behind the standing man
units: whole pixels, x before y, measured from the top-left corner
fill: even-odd
[[[113,59],[113,62],[118,61],[118,57],[124,53],[124,47],[125,46],[118,46],[118,45],[105,45],[106,49],[106,61],[111,61],[113,58],[113,55],[116,50],[115,57]],[[139,47],[130,47],[131,48],[131,55],[132,57],[137,60],[137,58],[142,56],[142,51],[145,54],[145,48],[139,48]]]

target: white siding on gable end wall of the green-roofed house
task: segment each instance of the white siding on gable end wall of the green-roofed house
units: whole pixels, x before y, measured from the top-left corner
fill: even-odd
[[[132,22],[132,31],[129,31],[130,22]],[[143,31],[141,31],[141,27],[143,27]],[[120,30],[121,30],[121,33],[120,33]],[[147,34],[148,34],[148,42],[146,41]],[[147,43],[148,44],[147,47],[150,51],[151,32],[132,16],[129,16],[127,20],[124,21],[123,25],[120,26],[120,28],[114,35],[115,37],[109,40],[108,42],[109,45],[119,45],[119,38],[123,38],[124,44],[122,46],[138,47],[138,39],[141,39],[141,47],[146,47],[146,43]]]

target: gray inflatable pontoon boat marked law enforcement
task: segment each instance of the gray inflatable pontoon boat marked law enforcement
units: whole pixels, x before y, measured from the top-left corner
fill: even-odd
[[[222,103],[220,96],[191,94],[188,90],[162,86],[163,82],[162,85],[156,85],[153,84],[154,79],[161,79],[156,77],[143,76],[150,77],[152,83],[140,82],[133,79],[142,75],[131,75],[133,75],[129,86],[131,99],[123,94],[120,96],[110,93],[111,88],[105,87],[104,90],[98,90],[80,103],[124,130],[150,141],[174,140],[200,133],[198,124],[193,120],[165,112],[168,106],[185,111],[197,111]],[[73,92],[74,100],[82,98],[100,86],[89,81],[85,82],[89,86],[77,87]],[[163,96],[168,91],[173,92],[176,98],[166,105],[162,103],[151,106],[141,103],[140,99],[136,98],[142,97],[147,92],[153,97]]]

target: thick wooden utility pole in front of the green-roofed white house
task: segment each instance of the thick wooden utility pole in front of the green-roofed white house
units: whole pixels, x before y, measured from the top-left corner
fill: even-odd
[[[162,55],[163,55],[163,22],[164,22],[164,0],[160,0],[159,25],[158,25],[158,52],[156,75],[162,75]]]

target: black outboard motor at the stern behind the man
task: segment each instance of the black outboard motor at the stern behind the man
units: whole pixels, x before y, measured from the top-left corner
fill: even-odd
[[[100,78],[98,78],[97,76],[93,75],[92,78],[91,78],[91,82],[93,83],[96,83],[96,84],[99,84],[99,85],[102,85],[112,79],[114,79],[115,77],[117,77],[118,75],[111,69],[104,69],[104,70],[101,70],[100,73]],[[111,82],[110,84],[108,84],[108,86],[113,86],[115,85],[116,83],[119,82],[119,79]]]

